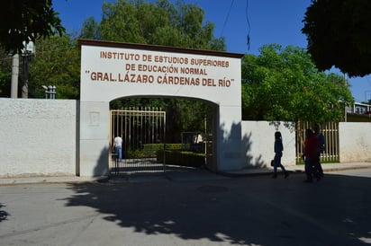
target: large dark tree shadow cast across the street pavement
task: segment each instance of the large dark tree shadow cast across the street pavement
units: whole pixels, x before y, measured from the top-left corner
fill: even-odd
[[[93,207],[135,233],[223,245],[371,242],[371,179],[326,174],[307,184],[303,178],[71,184],[76,194],[67,206]]]

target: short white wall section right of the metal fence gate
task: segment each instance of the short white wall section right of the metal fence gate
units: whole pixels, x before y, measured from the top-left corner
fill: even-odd
[[[340,163],[371,162],[371,123],[339,123]]]

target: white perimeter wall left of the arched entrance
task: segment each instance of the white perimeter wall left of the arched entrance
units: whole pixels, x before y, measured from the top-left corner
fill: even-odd
[[[77,101],[0,98],[0,177],[76,175]]]

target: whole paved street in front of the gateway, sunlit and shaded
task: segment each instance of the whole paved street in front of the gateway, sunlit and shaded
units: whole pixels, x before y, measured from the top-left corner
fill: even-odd
[[[0,186],[0,245],[370,245],[370,178],[361,169],[312,184],[303,173],[203,173]]]

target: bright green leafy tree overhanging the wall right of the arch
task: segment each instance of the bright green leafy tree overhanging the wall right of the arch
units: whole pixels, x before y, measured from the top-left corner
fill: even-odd
[[[267,45],[242,59],[242,119],[339,120],[353,102],[343,76],[318,72],[303,48]]]

